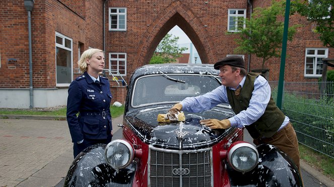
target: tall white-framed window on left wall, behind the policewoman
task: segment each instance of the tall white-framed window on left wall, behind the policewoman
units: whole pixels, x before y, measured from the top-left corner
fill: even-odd
[[[72,82],[72,38],[55,33],[56,86],[68,86]]]

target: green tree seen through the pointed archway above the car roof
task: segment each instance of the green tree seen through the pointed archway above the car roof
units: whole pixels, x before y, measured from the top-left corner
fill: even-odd
[[[171,63],[175,62],[178,57],[181,57],[181,53],[188,48],[178,48],[178,39],[179,37],[166,34],[154,51],[150,64]]]

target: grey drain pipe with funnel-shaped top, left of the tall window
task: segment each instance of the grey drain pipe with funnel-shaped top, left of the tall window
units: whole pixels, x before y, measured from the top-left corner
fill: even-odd
[[[24,7],[28,12],[28,37],[29,37],[29,95],[30,95],[30,106],[29,108],[34,108],[33,106],[33,87],[32,87],[32,49],[31,49],[31,11],[34,8],[34,0],[24,0]]]

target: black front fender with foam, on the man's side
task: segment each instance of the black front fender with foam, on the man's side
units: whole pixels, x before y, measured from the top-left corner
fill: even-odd
[[[241,173],[226,164],[231,186],[303,186],[297,166],[274,145],[256,147],[259,162],[253,170]]]

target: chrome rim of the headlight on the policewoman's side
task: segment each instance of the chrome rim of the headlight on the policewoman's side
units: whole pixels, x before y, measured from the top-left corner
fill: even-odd
[[[129,159],[126,161],[126,164],[122,165],[122,166],[115,166],[113,163],[110,162],[110,160],[108,159],[108,156],[107,156],[107,152],[108,152],[108,149],[111,148],[111,146],[114,146],[116,143],[121,143],[123,145],[125,145],[125,147],[127,148],[128,152],[129,152]],[[135,149],[133,148],[133,146],[126,140],[113,140],[111,142],[109,142],[104,150],[104,158],[106,160],[106,162],[115,170],[118,170],[118,169],[124,169],[126,168],[127,166],[130,165],[130,163],[133,161],[133,158],[135,157]]]

